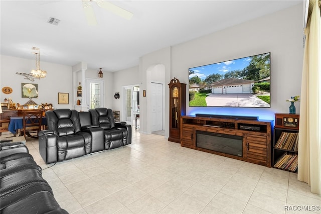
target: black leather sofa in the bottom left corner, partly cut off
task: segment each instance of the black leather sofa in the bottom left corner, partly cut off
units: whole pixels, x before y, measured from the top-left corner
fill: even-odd
[[[0,213],[68,213],[23,144],[1,144]]]

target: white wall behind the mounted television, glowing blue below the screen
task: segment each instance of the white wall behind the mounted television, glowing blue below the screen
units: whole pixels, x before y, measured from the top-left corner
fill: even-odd
[[[274,113],[288,113],[290,96],[299,95],[303,61],[302,7],[292,8],[240,24],[193,41],[173,46],[173,76],[188,83],[188,69],[206,64],[271,52],[271,108],[195,108],[195,113],[250,115],[274,120]],[[295,103],[299,112],[299,103]]]

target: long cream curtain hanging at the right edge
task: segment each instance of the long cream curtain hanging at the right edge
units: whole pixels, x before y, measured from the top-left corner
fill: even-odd
[[[310,1],[313,9],[305,29],[297,179],[308,183],[312,193],[321,194],[321,18],[318,0]]]

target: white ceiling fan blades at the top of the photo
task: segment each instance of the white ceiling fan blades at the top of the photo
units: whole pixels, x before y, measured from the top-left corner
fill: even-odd
[[[96,16],[91,4],[92,2],[95,2],[98,7],[110,11],[126,20],[130,20],[133,16],[131,12],[103,0],[82,0],[82,7],[84,9],[88,25],[97,25]]]

